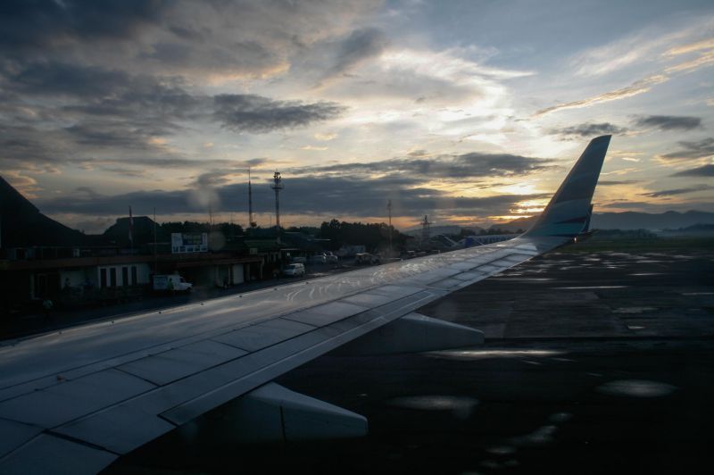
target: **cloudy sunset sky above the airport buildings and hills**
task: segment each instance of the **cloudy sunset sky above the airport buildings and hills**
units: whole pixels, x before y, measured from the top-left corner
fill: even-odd
[[[714,212],[706,1],[4,0],[0,175],[73,228]]]

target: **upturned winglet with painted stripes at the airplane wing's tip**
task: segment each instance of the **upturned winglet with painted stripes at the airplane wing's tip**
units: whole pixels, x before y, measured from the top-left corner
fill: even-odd
[[[587,230],[592,213],[591,201],[610,137],[603,135],[590,141],[551,202],[524,236],[576,237]]]

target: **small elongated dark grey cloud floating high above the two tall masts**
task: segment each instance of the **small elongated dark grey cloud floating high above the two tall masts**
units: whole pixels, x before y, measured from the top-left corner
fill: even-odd
[[[213,116],[223,127],[237,132],[266,133],[293,129],[312,122],[334,119],[345,107],[336,103],[303,104],[299,101],[273,101],[253,95],[223,94],[214,96]]]

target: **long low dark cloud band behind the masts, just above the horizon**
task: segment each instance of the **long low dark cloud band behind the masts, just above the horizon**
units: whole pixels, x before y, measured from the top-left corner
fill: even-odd
[[[288,179],[282,194],[281,209],[286,214],[340,216],[379,216],[385,213],[386,200],[391,199],[394,215],[419,216],[425,213],[486,216],[508,214],[522,200],[549,195],[500,195],[487,197],[446,196],[441,190],[428,187],[403,187],[398,179],[348,179],[345,177],[298,177]],[[395,186],[395,185],[402,185]],[[255,212],[272,211],[270,182],[253,183]],[[39,200],[37,206],[47,213],[72,213],[90,216],[122,214],[131,204],[139,213],[156,207],[161,214],[206,212],[207,204],[196,194],[209,194],[199,187],[180,191],[139,191],[115,196],[103,196],[94,190],[78,190],[72,196]],[[245,183],[213,187],[210,190],[214,211],[245,212]],[[255,198],[258,199],[255,199]],[[142,208],[143,206],[143,208]]]

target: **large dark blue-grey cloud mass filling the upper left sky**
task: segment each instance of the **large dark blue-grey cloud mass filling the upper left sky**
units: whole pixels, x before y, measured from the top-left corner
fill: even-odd
[[[0,164],[27,169],[37,162],[110,157],[114,165],[115,158],[191,165],[201,161],[183,160],[153,139],[216,122],[241,133],[267,133],[333,119],[344,111],[339,104],[213,97],[195,85],[216,74],[277,74],[291,56],[320,41],[332,45],[347,68],[378,51],[384,39],[378,30],[351,28],[374,4],[4,1]]]

